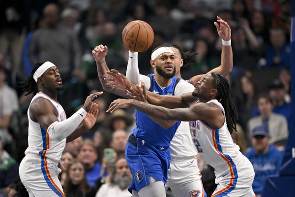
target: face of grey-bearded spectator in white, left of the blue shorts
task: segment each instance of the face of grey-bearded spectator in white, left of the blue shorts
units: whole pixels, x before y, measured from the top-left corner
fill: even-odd
[[[115,164],[116,170],[113,182],[121,189],[127,189],[132,181],[132,175],[127,165],[126,159],[121,158]]]

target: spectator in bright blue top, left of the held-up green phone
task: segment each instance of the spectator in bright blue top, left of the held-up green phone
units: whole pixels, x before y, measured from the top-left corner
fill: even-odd
[[[101,177],[101,165],[97,162],[97,152],[93,141],[84,140],[79,147],[77,158],[84,164],[88,183],[95,187],[95,181]]]

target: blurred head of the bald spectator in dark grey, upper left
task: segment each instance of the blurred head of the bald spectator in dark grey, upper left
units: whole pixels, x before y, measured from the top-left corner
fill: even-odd
[[[44,8],[45,23],[49,27],[55,27],[59,23],[59,7],[50,3]]]

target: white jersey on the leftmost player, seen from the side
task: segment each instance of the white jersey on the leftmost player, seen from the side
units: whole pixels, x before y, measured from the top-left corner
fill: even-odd
[[[39,98],[48,99],[52,102],[53,106],[58,112],[58,120],[59,122],[66,119],[65,112],[59,102],[50,98],[44,93],[37,93],[30,102],[30,105],[33,101]],[[30,108],[29,105],[29,108]],[[41,109],[42,110],[42,109]],[[28,109],[28,119],[29,119],[29,147],[25,151],[25,154],[36,154],[40,156],[47,157],[48,159],[54,162],[60,162],[62,151],[66,144],[66,138],[61,141],[56,141],[50,138],[50,135],[47,131],[45,131],[39,123],[32,121],[29,117],[29,109]]]

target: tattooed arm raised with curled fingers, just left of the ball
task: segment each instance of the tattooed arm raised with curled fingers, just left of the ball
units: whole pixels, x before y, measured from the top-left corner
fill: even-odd
[[[92,55],[96,62],[99,81],[105,91],[126,98],[126,93],[127,93],[126,90],[121,89],[115,85],[109,86],[107,85],[108,81],[104,79],[104,78],[111,77],[109,74],[107,74],[107,72],[110,71],[105,61],[105,56],[107,55],[107,53],[108,53],[108,47],[103,46],[102,44],[100,44],[99,46],[96,46],[92,50]]]

